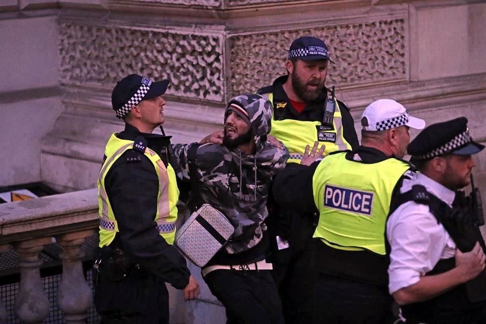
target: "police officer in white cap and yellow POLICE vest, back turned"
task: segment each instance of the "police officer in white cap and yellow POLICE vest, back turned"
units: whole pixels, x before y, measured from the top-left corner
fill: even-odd
[[[385,220],[411,165],[402,160],[409,128],[425,122],[398,102],[381,99],[362,113],[362,146],[332,153],[309,167],[288,166],[274,181],[282,207],[318,217],[312,262],[314,323],[386,323]]]

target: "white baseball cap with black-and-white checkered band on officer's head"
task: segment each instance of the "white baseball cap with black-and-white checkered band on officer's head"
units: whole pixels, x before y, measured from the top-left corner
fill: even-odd
[[[421,130],[425,120],[409,115],[405,107],[391,99],[372,102],[361,115],[363,131],[386,131],[403,125]]]

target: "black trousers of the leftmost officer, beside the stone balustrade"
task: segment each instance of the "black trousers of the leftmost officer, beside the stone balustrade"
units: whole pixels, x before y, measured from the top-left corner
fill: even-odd
[[[95,306],[102,324],[169,324],[169,293],[163,280],[138,273],[113,281],[98,275]]]

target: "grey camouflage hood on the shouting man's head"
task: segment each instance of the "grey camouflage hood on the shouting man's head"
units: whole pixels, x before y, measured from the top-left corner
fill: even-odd
[[[233,108],[237,106],[238,108]],[[257,151],[262,149],[263,143],[267,140],[270,133],[272,120],[272,103],[260,95],[248,94],[240,95],[229,100],[224,111],[224,127],[226,128],[226,117],[228,111],[235,111],[240,117],[245,119],[252,130]]]

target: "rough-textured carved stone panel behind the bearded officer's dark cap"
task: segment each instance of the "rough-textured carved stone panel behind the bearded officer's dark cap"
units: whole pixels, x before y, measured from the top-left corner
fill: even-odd
[[[405,18],[236,35],[229,38],[231,95],[253,92],[286,74],[292,41],[315,35],[330,46],[328,85],[339,87],[404,80],[408,75]]]

